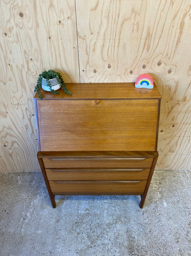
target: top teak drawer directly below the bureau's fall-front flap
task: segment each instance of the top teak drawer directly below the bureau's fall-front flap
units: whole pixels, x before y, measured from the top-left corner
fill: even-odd
[[[45,168],[150,168],[153,158],[43,158]]]

